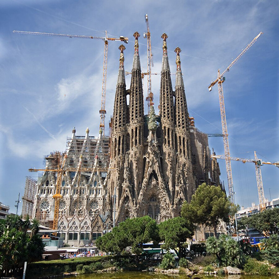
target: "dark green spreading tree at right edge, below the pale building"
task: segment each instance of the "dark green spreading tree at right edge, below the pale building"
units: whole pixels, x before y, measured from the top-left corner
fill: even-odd
[[[271,236],[279,233],[279,208],[266,209],[250,217],[242,217],[239,221],[241,227],[254,228],[262,235]]]

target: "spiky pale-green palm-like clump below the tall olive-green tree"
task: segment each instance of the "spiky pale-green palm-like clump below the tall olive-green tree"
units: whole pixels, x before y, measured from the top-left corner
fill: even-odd
[[[219,264],[224,266],[241,268],[245,263],[244,253],[239,243],[227,235],[221,235],[219,239],[209,237],[206,241],[206,251],[215,254]]]

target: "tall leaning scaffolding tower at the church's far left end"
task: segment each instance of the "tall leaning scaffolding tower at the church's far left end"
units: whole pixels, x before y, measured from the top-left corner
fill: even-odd
[[[34,199],[36,195],[37,181],[31,176],[26,176],[24,195],[22,197],[21,215],[25,218],[27,215],[33,216]]]

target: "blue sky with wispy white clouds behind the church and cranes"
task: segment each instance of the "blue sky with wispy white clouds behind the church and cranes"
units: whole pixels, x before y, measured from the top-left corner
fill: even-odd
[[[13,34],[13,30],[78,35],[126,36],[125,70],[133,58],[132,37],[140,33],[139,54],[147,67],[144,15],[148,13],[153,48],[153,72],[160,72],[162,33],[166,32],[170,68],[175,72],[175,47],[188,110],[195,125],[221,133],[217,86],[207,86],[260,32],[263,35],[227,73],[223,84],[231,156],[279,161],[278,149],[278,6],[270,1],[71,1],[2,0],[0,2],[0,201],[11,206],[24,192],[31,167],[42,167],[43,156],[64,151],[73,126],[77,135],[97,135],[104,43]],[[117,80],[119,42],[108,47],[106,133]],[[175,79],[173,77],[173,87]],[[144,80],[146,95],[147,80]],[[130,77],[126,76],[127,89]],[[160,76],[153,76],[155,107]],[[65,96],[64,96],[65,95]],[[145,104],[147,111],[147,104]],[[157,111],[156,111],[157,112]],[[216,154],[224,154],[222,138],[210,138]],[[227,187],[224,160],[221,179]],[[279,195],[278,168],[263,166],[265,197]],[[258,202],[255,166],[232,162],[236,202]]]

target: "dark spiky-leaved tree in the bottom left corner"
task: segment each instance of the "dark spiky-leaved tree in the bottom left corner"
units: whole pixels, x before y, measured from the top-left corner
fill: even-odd
[[[28,230],[31,234],[28,234]],[[0,274],[22,276],[24,262],[32,263],[42,258],[45,244],[37,234],[38,221],[27,216],[9,215],[0,220]],[[11,273],[9,273],[11,272]]]

